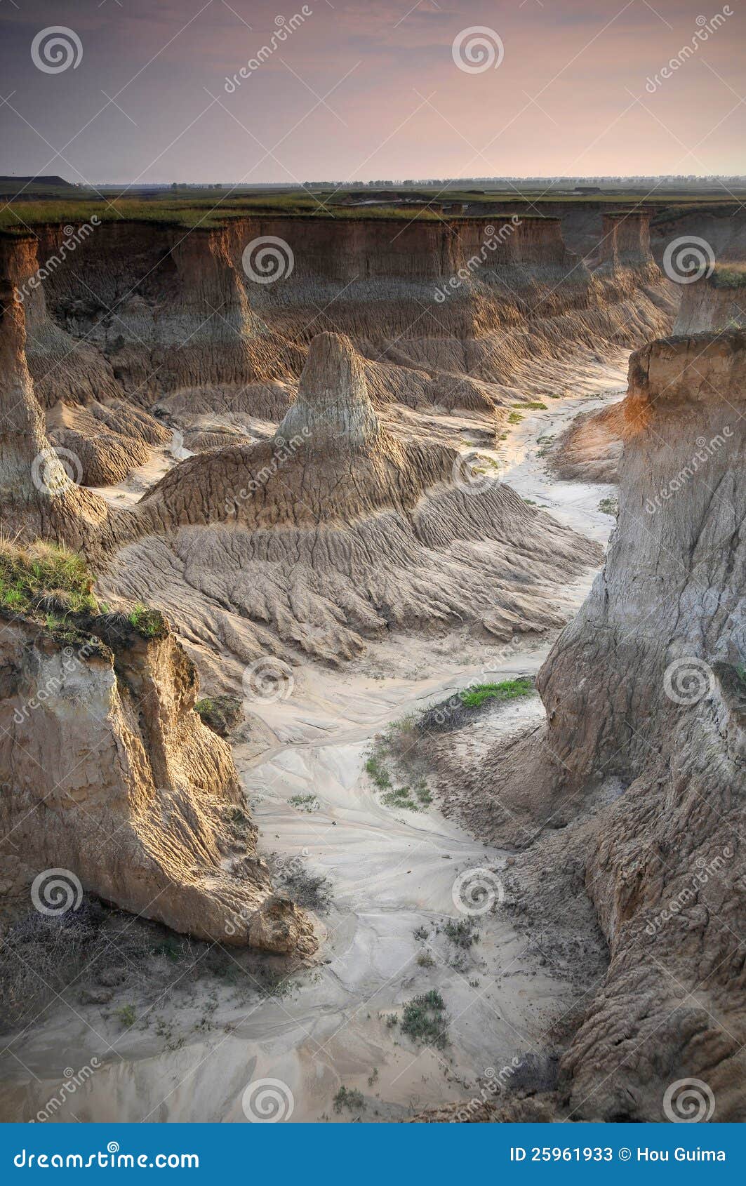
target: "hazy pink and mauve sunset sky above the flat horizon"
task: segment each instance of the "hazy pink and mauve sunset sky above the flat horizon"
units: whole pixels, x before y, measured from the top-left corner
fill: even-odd
[[[305,13],[297,0],[2,0],[0,173],[253,184],[746,172],[742,0],[310,0]],[[76,66],[34,64],[49,26],[76,34]],[[479,72],[453,53],[473,26],[495,57]]]

